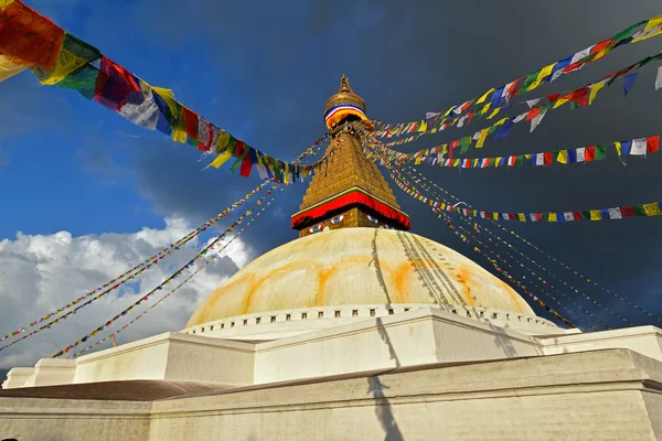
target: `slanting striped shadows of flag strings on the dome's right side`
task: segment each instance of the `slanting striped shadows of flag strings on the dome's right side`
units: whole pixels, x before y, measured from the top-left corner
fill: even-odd
[[[397,236],[403,244],[407,260],[435,303],[465,304],[462,294],[446,273],[446,269],[439,265],[439,260],[444,260],[444,257],[431,256],[421,240],[414,235],[398,232]]]

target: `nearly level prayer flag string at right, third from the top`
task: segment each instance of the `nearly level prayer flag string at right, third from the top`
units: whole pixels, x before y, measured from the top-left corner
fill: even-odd
[[[513,168],[513,166],[545,166],[554,163],[558,164],[576,164],[584,162],[601,161],[607,158],[607,149],[612,147],[619,157],[634,155],[645,157],[656,153],[660,150],[660,135],[648,138],[638,138],[630,141],[617,141],[599,146],[580,147],[577,149],[556,150],[552,152],[541,153],[524,153],[512,154],[509,157],[491,157],[491,158],[474,158],[474,159],[441,159],[437,157],[425,155],[428,161],[421,161],[421,155],[418,152],[414,157],[399,157],[396,151],[386,147],[376,147],[381,149],[386,158],[391,158],[388,162],[402,166],[406,163],[416,165],[428,163],[442,168],[456,169],[488,169],[488,168]],[[428,149],[429,150],[429,149]],[[427,151],[427,150],[426,150]]]

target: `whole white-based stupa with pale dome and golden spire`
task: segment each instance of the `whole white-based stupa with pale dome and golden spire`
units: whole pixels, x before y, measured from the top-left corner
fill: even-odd
[[[291,227],[179,332],[14,368],[0,438],[17,440],[654,440],[662,333],[581,333],[537,316],[409,218],[349,122]],[[344,128],[344,129],[343,129]],[[39,421],[39,423],[36,423]]]

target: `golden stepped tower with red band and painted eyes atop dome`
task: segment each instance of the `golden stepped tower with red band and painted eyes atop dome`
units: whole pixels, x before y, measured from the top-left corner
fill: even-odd
[[[409,229],[409,217],[399,209],[377,166],[363,154],[359,135],[348,130],[349,122],[359,120],[372,126],[365,116],[365,101],[343,75],[338,94],[324,106],[324,121],[332,137],[328,165],[312,178],[299,212],[292,215],[292,228],[299,230],[299,237],[327,228]]]

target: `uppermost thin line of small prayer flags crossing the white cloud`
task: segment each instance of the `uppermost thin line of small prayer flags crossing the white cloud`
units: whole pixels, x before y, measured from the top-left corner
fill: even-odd
[[[177,240],[175,243],[171,244],[170,246],[163,248],[162,250],[160,250],[159,252],[157,252],[156,255],[149,257],[148,259],[143,260],[142,262],[136,265],[134,268],[125,271],[122,275],[116,277],[115,279],[108,281],[107,283],[105,283],[103,287],[97,288],[93,291],[89,291],[88,293],[86,293],[85,295],[82,295],[73,301],[71,301],[70,303],[66,303],[65,305],[58,308],[55,311],[52,311],[45,315],[43,315],[41,319],[35,320],[33,322],[28,323],[26,325],[19,327],[18,330],[14,330],[12,332],[10,332],[9,334],[7,334],[4,337],[0,338],[0,342],[7,340],[7,338],[11,338],[15,335],[19,334],[23,334],[25,333],[26,330],[39,325],[40,323],[43,323],[44,321],[49,320],[50,318],[60,314],[61,312],[81,303],[82,301],[95,295],[92,300],[89,300],[88,302],[77,306],[76,309],[70,311],[67,314],[61,316],[60,319],[57,319],[57,321],[51,322],[47,325],[42,326],[42,329],[40,329],[39,331],[32,332],[30,333],[28,336],[25,336],[24,338],[28,338],[31,335],[36,334],[38,332],[40,332],[43,329],[46,327],[51,327],[51,325],[53,325],[54,323],[60,323],[61,321],[65,320],[67,316],[76,313],[78,310],[81,310],[82,308],[93,303],[94,301],[103,298],[104,295],[106,295],[108,292],[115,291],[117,289],[119,289],[119,287],[121,287],[124,283],[129,282],[131,280],[134,280],[136,278],[136,276],[141,275],[143,271],[148,270],[149,268],[151,268],[152,266],[157,265],[159,261],[163,260],[166,257],[170,256],[172,252],[179,250],[181,247],[185,246],[189,241],[191,241],[192,239],[194,239],[195,237],[197,237],[202,232],[209,229],[210,227],[212,227],[216,222],[218,222],[220,219],[226,217],[229,213],[232,213],[233,211],[235,211],[238,206],[241,206],[242,204],[244,204],[244,202],[246,202],[248,198],[253,197],[255,194],[257,194],[259,191],[261,191],[269,182],[264,182],[261,184],[259,184],[256,189],[254,189],[252,192],[249,192],[248,194],[246,194],[246,196],[244,196],[243,198],[236,201],[234,204],[232,204],[229,207],[225,208],[223,212],[218,213],[216,216],[212,217],[211,219],[209,219],[207,222],[205,222],[204,224],[202,224],[200,227],[191,230],[188,235],[185,235],[184,237],[182,237],[181,239]],[[21,338],[23,340],[23,338]],[[18,341],[17,341],[18,342]],[[4,347],[9,347],[9,345],[4,346]],[[0,351],[2,351],[4,347],[1,347]]]

